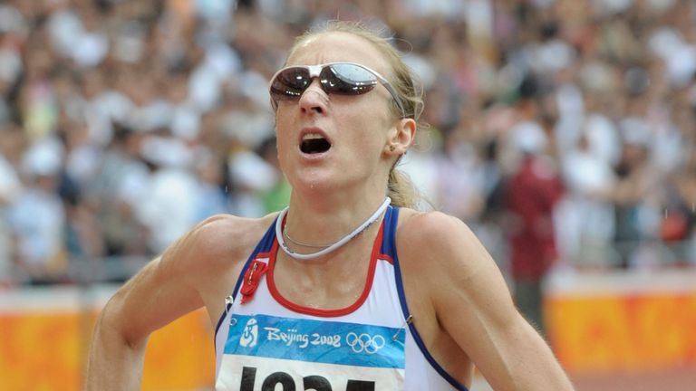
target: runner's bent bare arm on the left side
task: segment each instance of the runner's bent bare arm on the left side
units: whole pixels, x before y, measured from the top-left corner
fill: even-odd
[[[210,260],[218,257],[211,252],[220,251],[214,243],[220,231],[231,234],[224,228],[230,224],[220,219],[227,218],[212,217],[191,229],[109,300],[92,337],[88,391],[140,389],[150,333],[203,305],[201,281],[214,272]]]

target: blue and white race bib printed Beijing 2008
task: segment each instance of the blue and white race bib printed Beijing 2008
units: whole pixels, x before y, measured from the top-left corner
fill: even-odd
[[[403,389],[404,339],[382,326],[233,315],[216,389]]]

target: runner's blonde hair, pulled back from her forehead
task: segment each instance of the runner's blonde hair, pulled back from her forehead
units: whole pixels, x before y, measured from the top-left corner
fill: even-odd
[[[404,118],[418,121],[420,113],[423,111],[423,91],[420,85],[417,86],[413,72],[403,62],[401,54],[392,45],[391,37],[384,38],[379,32],[372,30],[365,24],[347,21],[328,21],[324,24],[319,24],[295,39],[288,58],[292,56],[301,44],[325,33],[350,33],[372,43],[382,53],[382,56],[384,56],[384,59],[391,67],[391,75],[385,75],[385,77],[389,80],[391,87],[396,91],[403,104]],[[396,101],[391,105],[391,109],[396,116],[401,117],[401,110],[397,106]],[[387,196],[391,197],[391,205],[416,207],[420,202],[420,194],[409,176],[396,169],[400,160],[401,157],[391,167],[387,183]]]

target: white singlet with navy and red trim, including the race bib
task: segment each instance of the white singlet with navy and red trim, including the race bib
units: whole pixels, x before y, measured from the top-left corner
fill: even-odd
[[[299,306],[277,291],[271,224],[218,321],[216,389],[466,391],[430,356],[411,322],[396,254],[398,218],[390,206],[362,295],[341,310]]]

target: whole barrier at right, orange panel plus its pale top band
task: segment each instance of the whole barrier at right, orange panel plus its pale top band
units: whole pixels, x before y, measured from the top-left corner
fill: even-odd
[[[549,290],[548,339],[575,372],[696,367],[696,274],[585,276]]]

